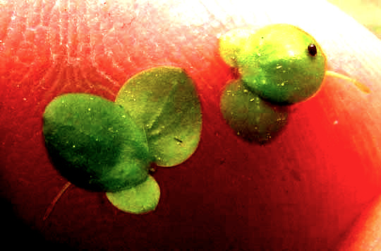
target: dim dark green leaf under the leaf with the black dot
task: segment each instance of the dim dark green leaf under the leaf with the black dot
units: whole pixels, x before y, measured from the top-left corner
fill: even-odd
[[[239,136],[260,144],[277,134],[287,121],[285,107],[267,103],[248,91],[239,80],[226,85],[221,112]]]

